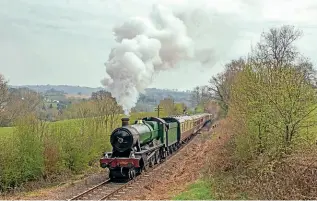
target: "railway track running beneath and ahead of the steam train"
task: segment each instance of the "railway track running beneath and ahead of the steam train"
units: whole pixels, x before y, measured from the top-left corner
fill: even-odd
[[[216,125],[213,125],[212,128],[214,128]],[[202,130],[205,130],[205,129],[202,128],[201,131]],[[144,179],[150,177],[151,173],[154,172],[153,170],[159,169],[160,167],[162,167],[162,164],[173,159],[184,147],[192,143],[193,139],[195,139],[197,134],[199,134],[201,131],[198,131],[191,139],[189,139],[189,141],[183,144],[174,154],[168,156],[164,161],[162,161],[159,164],[156,164],[155,166],[148,169],[147,171],[142,172],[141,175],[138,175],[133,180],[128,181],[127,183],[119,183],[119,182],[114,183],[114,182],[111,182],[110,179],[108,179],[74,196],[73,198],[69,200],[117,200],[118,197],[120,197],[121,194],[124,194],[126,190],[132,189],[133,185],[138,185]]]

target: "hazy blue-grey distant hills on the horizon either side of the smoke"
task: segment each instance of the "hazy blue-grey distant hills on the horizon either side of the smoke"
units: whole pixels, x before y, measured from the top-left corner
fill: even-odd
[[[27,87],[39,93],[46,93],[47,91],[62,91],[66,97],[89,97],[91,93],[103,90],[104,88],[92,88],[82,86],[70,86],[70,85],[22,85],[22,86],[10,86],[12,88],[24,88]],[[149,105],[157,105],[160,100],[164,98],[173,98],[175,102],[183,102],[186,105],[190,104],[190,91],[176,91],[169,89],[157,89],[148,88],[145,89],[146,93],[140,96],[138,103],[144,103]]]

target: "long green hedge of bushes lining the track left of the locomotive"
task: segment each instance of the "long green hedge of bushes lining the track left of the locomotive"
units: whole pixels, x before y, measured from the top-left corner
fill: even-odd
[[[155,113],[133,113],[130,123]],[[164,114],[162,114],[164,115]],[[0,138],[0,189],[26,181],[54,181],[58,175],[78,174],[99,166],[99,158],[111,151],[110,133],[121,125],[122,115],[46,123],[35,116],[16,122],[11,135]]]

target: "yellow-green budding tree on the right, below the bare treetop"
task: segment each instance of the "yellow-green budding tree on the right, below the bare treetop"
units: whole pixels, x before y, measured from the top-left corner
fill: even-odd
[[[315,90],[295,69],[253,68],[240,73],[231,94],[230,114],[240,122],[236,130],[248,133],[245,143],[258,154],[277,147],[287,150],[295,140],[303,138],[301,127],[317,109]],[[247,131],[241,129],[241,120]]]

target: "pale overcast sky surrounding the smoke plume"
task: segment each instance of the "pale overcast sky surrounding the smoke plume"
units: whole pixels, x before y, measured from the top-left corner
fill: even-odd
[[[190,15],[199,27],[190,32],[215,54],[214,65],[182,62],[156,75],[150,87],[206,84],[228,60],[244,56],[262,31],[282,24],[304,31],[299,48],[317,62],[317,0],[0,0],[0,73],[12,85],[99,87],[115,45],[112,28],[148,16],[154,3],[200,9]]]

